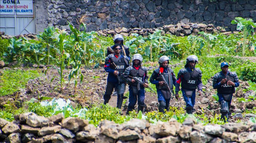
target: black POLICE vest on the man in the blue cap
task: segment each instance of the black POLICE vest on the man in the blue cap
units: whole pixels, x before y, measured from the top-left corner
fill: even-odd
[[[220,77],[218,79],[218,82],[220,82],[224,77]],[[232,82],[235,81],[235,79],[233,77],[231,77],[229,74],[227,75],[227,81],[230,80]],[[228,83],[222,84],[220,88],[217,89],[218,93],[222,93],[222,94],[231,94],[234,93],[234,86],[230,86],[228,85]]]

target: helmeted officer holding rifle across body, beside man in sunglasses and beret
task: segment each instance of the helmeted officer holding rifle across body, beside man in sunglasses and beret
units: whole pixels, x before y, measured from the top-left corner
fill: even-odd
[[[146,104],[145,100],[145,87],[148,86],[148,75],[147,68],[141,65],[142,56],[140,54],[134,54],[132,56],[132,65],[126,68],[124,71],[124,78],[128,80],[129,83],[129,105],[126,114],[129,114],[129,111],[132,111],[135,108],[135,104],[138,99],[138,111],[143,112]],[[145,82],[145,85],[142,85],[136,82],[132,77],[137,77],[141,81]]]

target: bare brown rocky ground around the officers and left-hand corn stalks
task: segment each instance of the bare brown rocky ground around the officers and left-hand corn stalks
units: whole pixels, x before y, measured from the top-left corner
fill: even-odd
[[[182,63],[182,62],[181,62]],[[172,66],[177,66],[180,63]],[[156,67],[156,64],[150,63],[149,70],[153,70]],[[4,72],[4,68],[1,69],[1,73]],[[23,70],[27,69],[34,69],[36,68],[21,68]],[[81,69],[84,80],[83,83],[78,83],[77,86],[77,92],[74,94],[74,82],[71,80],[70,83],[68,83],[68,71],[69,69],[64,70],[64,79],[66,80],[63,84],[63,91],[60,93],[60,82],[59,82],[59,75],[56,69],[50,67],[46,75],[44,75],[44,71],[47,68],[43,65],[38,69],[41,73],[41,77],[29,80],[26,88],[21,89],[19,92],[14,93],[13,95],[9,96],[1,96],[1,107],[7,102],[7,101],[19,101],[19,103],[23,103],[25,101],[30,100],[31,98],[37,98],[38,95],[40,96],[48,96],[48,97],[56,97],[56,98],[65,98],[70,99],[71,104],[76,107],[78,104],[82,106],[91,106],[92,104],[99,104],[103,103],[103,95],[105,92],[105,86],[106,86],[106,80],[107,80],[107,73],[105,70],[101,67],[98,69],[92,69],[88,67],[84,67]],[[51,79],[52,80],[51,83]],[[247,91],[246,93],[243,92],[243,89],[248,88],[248,83],[244,81],[240,81],[240,87],[236,89],[236,93],[233,95],[233,100],[231,103],[231,112],[234,113],[234,116],[231,116],[230,121],[235,122],[237,119],[245,122],[248,121],[250,117],[255,117],[255,114],[242,114],[246,111],[246,109],[252,109],[253,107],[256,107],[256,101],[251,102],[239,102],[237,100],[238,97],[244,97],[248,98],[249,95],[255,95],[254,91]],[[128,86],[127,90],[128,91]],[[220,114],[220,105],[215,101],[215,99],[212,97],[213,94],[216,94],[216,90],[213,90],[212,88],[212,79],[208,80],[208,83],[203,86],[203,94],[202,96],[196,95],[196,103],[195,103],[195,109],[196,114],[201,114],[202,110],[204,109],[204,113],[210,118],[215,116],[215,114]],[[185,101],[183,100],[183,97],[180,93],[179,100],[171,99],[170,106],[175,107],[182,107],[185,108]],[[147,104],[147,108],[145,108],[144,112],[148,111],[154,111],[158,109],[158,100],[157,100],[157,94],[146,92],[145,93],[145,103]],[[111,100],[109,101],[109,104],[113,107],[116,106],[116,96],[111,96]],[[21,106],[21,104],[17,105]],[[126,113],[128,106],[128,100],[124,104],[122,111],[123,113]],[[137,108],[137,107],[136,107]],[[135,108],[135,109],[136,109]],[[244,115],[244,116],[243,116]]]

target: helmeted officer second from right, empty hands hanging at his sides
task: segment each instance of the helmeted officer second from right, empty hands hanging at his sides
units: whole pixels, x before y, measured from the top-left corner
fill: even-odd
[[[185,68],[180,69],[177,75],[175,98],[178,99],[181,83],[182,95],[186,102],[186,112],[187,114],[192,114],[195,105],[196,88],[198,89],[199,96],[202,94],[202,72],[199,68],[195,68],[196,63],[198,63],[196,55],[190,55],[186,60]]]

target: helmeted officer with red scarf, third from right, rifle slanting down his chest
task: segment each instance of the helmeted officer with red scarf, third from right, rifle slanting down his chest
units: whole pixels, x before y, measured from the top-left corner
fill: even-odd
[[[164,75],[165,80],[168,82],[169,88],[172,90],[175,86],[176,78],[173,70],[168,67],[169,58],[167,56],[161,56],[159,58],[159,68],[155,69],[150,77],[150,82],[156,85],[157,98],[159,102],[159,112],[165,113],[164,109],[169,111],[169,104],[171,99],[171,93],[164,86],[164,81],[161,80],[159,74]]]

